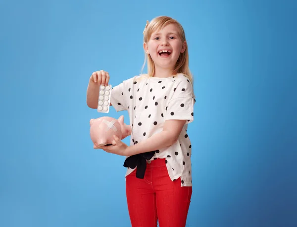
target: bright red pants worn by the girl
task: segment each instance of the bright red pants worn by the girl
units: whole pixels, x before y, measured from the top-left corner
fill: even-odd
[[[126,178],[126,195],[132,227],[185,227],[192,187],[181,187],[181,179],[171,181],[165,159],[147,163],[144,179],[136,170]]]

